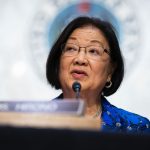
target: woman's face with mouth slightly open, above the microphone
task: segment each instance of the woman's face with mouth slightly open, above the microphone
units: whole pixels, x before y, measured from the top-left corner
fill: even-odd
[[[80,48],[77,53],[74,52],[76,49],[72,50],[68,47],[61,55],[59,79],[63,92],[72,91],[73,82],[79,81],[82,87],[81,92],[97,91],[100,93],[105,83],[111,78],[110,56],[105,52],[100,56],[97,51],[90,51],[88,48],[85,51],[85,47],[92,45],[94,48],[103,47],[109,50],[103,33],[93,26],[77,28],[69,36],[65,45],[70,44],[73,47],[78,45]]]

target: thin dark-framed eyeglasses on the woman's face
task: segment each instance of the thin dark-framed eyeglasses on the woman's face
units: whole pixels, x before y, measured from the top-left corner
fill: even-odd
[[[100,60],[104,53],[110,55],[110,51],[104,49],[102,46],[98,45],[89,45],[86,47],[80,47],[74,43],[65,43],[62,45],[62,53],[64,56],[77,56],[81,50],[81,48],[85,48],[85,54],[89,59]]]

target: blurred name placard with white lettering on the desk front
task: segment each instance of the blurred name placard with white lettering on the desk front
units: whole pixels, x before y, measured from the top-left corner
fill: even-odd
[[[0,101],[0,112],[40,112],[69,115],[83,115],[83,100],[56,99],[52,101]]]

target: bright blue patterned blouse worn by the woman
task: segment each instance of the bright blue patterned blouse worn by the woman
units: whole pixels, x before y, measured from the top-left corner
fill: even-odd
[[[61,94],[56,99],[63,99]],[[105,132],[150,133],[150,121],[140,115],[117,108],[102,97],[102,128]]]

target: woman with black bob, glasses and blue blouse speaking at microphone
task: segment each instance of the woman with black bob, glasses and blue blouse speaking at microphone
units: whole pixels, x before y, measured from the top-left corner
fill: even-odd
[[[72,84],[81,84],[80,98],[85,116],[101,118],[102,130],[149,132],[147,118],[111,105],[105,96],[119,88],[124,64],[112,25],[98,18],[78,17],[71,21],[53,45],[47,59],[49,83],[62,89],[57,98],[74,98]]]

